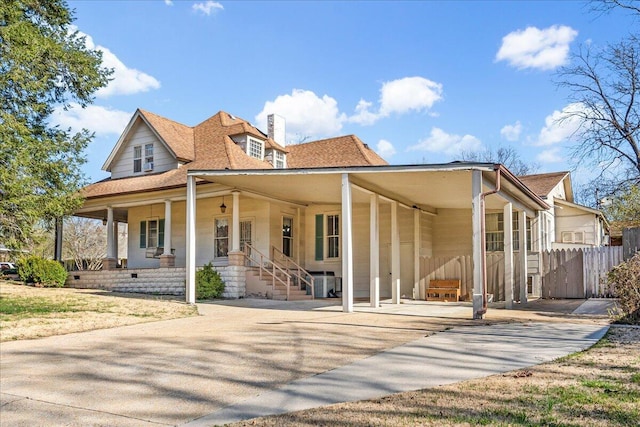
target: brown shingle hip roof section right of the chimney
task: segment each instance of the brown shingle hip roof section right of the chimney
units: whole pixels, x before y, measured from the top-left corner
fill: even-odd
[[[287,166],[316,168],[329,166],[372,166],[388,163],[355,135],[307,142],[289,147]]]

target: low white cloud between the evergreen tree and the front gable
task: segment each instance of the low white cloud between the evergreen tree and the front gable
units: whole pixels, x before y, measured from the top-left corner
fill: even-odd
[[[71,128],[74,132],[88,129],[96,136],[120,135],[131,119],[131,113],[114,110],[99,105],[88,105],[85,108],[72,103],[65,111],[56,108],[51,115],[53,125],[60,125],[63,129]]]

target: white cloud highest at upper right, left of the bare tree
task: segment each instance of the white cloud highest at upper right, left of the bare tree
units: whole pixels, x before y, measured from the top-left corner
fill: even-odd
[[[514,31],[502,38],[496,61],[507,61],[519,69],[552,70],[567,62],[569,44],[577,35],[576,30],[565,25]]]

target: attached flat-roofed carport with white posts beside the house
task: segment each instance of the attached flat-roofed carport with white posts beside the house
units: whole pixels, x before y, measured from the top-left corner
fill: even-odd
[[[482,318],[486,312],[486,278],[484,215],[491,210],[503,212],[505,224],[511,224],[512,215],[536,219],[538,211],[548,209],[546,203],[533,194],[508,169],[492,163],[449,163],[409,166],[366,166],[317,169],[269,169],[269,170],[190,170],[187,174],[186,212],[186,299],[195,302],[196,272],[196,200],[198,185],[212,182],[228,187],[233,194],[233,218],[231,252],[239,252],[240,195],[267,199],[306,209],[314,205],[340,207],[341,223],[341,272],[342,309],[353,311],[354,283],[361,280],[354,276],[354,254],[368,252],[369,300],[372,307],[380,303],[381,283],[381,229],[390,235],[390,286],[391,299],[400,303],[401,297],[401,241],[400,232],[413,234],[413,286],[421,279],[418,259],[421,254],[470,251],[473,256],[473,318]],[[354,217],[354,207],[358,216]],[[367,207],[366,210],[364,208]],[[381,217],[381,209],[388,216]],[[400,211],[403,210],[403,215]],[[367,212],[368,211],[368,212]],[[362,215],[363,212],[366,214]],[[406,221],[407,212],[413,220]],[[463,229],[456,230],[448,217],[459,215]],[[429,219],[431,218],[431,219]],[[368,224],[365,224],[368,223]],[[430,224],[431,229],[425,224]],[[443,227],[453,227],[450,239],[443,237]],[[368,238],[359,238],[361,231]],[[520,230],[520,242],[526,242],[524,227]],[[358,234],[360,233],[360,234]],[[446,233],[446,232],[445,232]],[[536,231],[533,234],[537,235]],[[385,234],[386,236],[386,234]],[[510,227],[505,229],[505,295],[513,300],[513,247]],[[444,243],[443,243],[444,242]],[[311,244],[306,242],[305,244]],[[523,246],[524,247],[524,246]],[[440,249],[439,249],[440,248]],[[527,257],[521,257],[526,281]],[[231,258],[230,258],[231,259]],[[406,271],[405,271],[406,275]],[[519,278],[523,280],[522,277]],[[511,289],[511,293],[509,293]],[[524,300],[526,301],[526,286]],[[415,294],[414,294],[415,295]],[[522,301],[522,297],[521,297]]]

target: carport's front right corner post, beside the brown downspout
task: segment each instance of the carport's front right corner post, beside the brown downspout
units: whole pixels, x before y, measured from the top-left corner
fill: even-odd
[[[472,229],[472,248],[473,248],[473,318],[482,319],[483,301],[482,301],[482,278],[483,261],[485,256],[482,248],[482,216],[484,209],[482,207],[482,171],[474,170],[471,172],[471,229]]]

